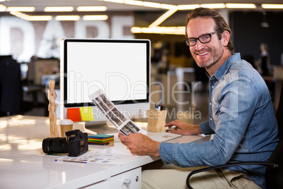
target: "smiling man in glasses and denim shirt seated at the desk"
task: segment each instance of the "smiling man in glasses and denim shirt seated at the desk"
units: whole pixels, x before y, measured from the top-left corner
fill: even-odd
[[[277,121],[268,87],[252,66],[234,54],[231,30],[224,18],[210,8],[188,14],[185,42],[198,66],[210,80],[209,120],[196,126],[172,121],[166,127],[182,135],[215,134],[203,143],[155,142],[140,133],[119,134],[132,154],[161,157],[180,167],[215,166],[227,162],[268,161],[275,149]],[[190,169],[191,170],[191,169]],[[146,170],[143,188],[186,188],[189,171]],[[265,167],[234,166],[191,178],[195,188],[265,188]]]

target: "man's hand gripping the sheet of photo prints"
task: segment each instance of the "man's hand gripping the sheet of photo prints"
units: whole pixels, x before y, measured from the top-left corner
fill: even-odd
[[[127,146],[133,155],[149,155],[159,157],[160,142],[151,140],[142,133],[130,133],[125,136],[118,134],[123,145]]]

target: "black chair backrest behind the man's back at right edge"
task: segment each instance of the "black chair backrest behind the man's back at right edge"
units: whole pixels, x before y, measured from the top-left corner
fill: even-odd
[[[270,167],[266,168],[265,178],[268,188],[283,188],[283,83],[281,87],[281,94],[279,99],[279,105],[276,112],[276,118],[279,129],[279,143],[275,150],[272,152],[268,162],[278,164],[277,169]]]

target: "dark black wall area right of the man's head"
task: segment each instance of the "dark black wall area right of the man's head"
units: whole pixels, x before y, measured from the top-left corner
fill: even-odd
[[[229,14],[230,27],[233,31],[235,51],[241,56],[251,55],[255,60],[260,56],[260,43],[269,46],[270,63],[280,64],[283,53],[283,12],[267,12],[269,28],[263,28],[261,12],[232,12]]]

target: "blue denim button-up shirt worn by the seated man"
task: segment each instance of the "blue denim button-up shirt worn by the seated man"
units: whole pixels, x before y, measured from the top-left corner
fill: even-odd
[[[161,143],[165,164],[215,166],[227,162],[268,161],[278,143],[278,128],[268,87],[250,63],[233,54],[210,77],[209,120],[200,124],[208,142]],[[261,188],[265,167],[232,166]]]

